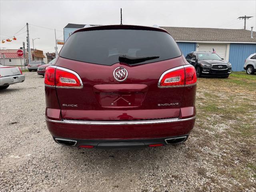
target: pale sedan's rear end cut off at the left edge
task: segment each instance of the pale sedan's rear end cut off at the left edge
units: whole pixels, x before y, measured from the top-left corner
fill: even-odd
[[[8,88],[11,84],[24,82],[24,80],[25,76],[19,67],[0,64],[0,90]]]

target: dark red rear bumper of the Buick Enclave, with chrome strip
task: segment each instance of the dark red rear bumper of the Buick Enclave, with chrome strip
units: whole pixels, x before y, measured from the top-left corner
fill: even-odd
[[[46,118],[48,130],[54,138],[83,140],[154,140],[188,135],[195,122],[195,116],[179,119],[128,120],[128,121],[83,121],[50,120]],[[143,143],[143,142],[142,142]],[[76,144],[75,146],[78,146]]]

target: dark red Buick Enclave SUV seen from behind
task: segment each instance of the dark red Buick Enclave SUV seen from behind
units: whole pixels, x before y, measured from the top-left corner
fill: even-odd
[[[46,122],[58,144],[163,146],[186,141],[194,126],[195,69],[161,28],[78,29],[44,82]]]

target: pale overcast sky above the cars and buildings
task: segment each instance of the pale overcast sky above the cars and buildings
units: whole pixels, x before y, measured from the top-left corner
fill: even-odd
[[[63,40],[63,28],[74,24],[123,24],[176,26],[198,28],[242,29],[239,16],[246,20],[246,29],[256,30],[256,0],[170,0],[170,1],[62,1],[62,0],[0,0],[0,48],[18,49],[26,42],[26,23],[29,24],[30,48],[54,52],[56,38]],[[25,26],[25,27],[24,27]],[[24,28],[23,28],[24,27]],[[62,45],[58,45],[60,50]]]

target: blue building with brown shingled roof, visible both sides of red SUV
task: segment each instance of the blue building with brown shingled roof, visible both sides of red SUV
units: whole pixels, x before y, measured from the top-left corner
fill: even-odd
[[[85,24],[68,24],[64,28],[64,42],[70,34]],[[93,25],[92,25],[93,26]],[[256,52],[256,32],[244,29],[161,27],[170,32],[180,50],[186,54],[192,51],[216,51],[232,64],[232,70],[244,70],[244,60]]]

